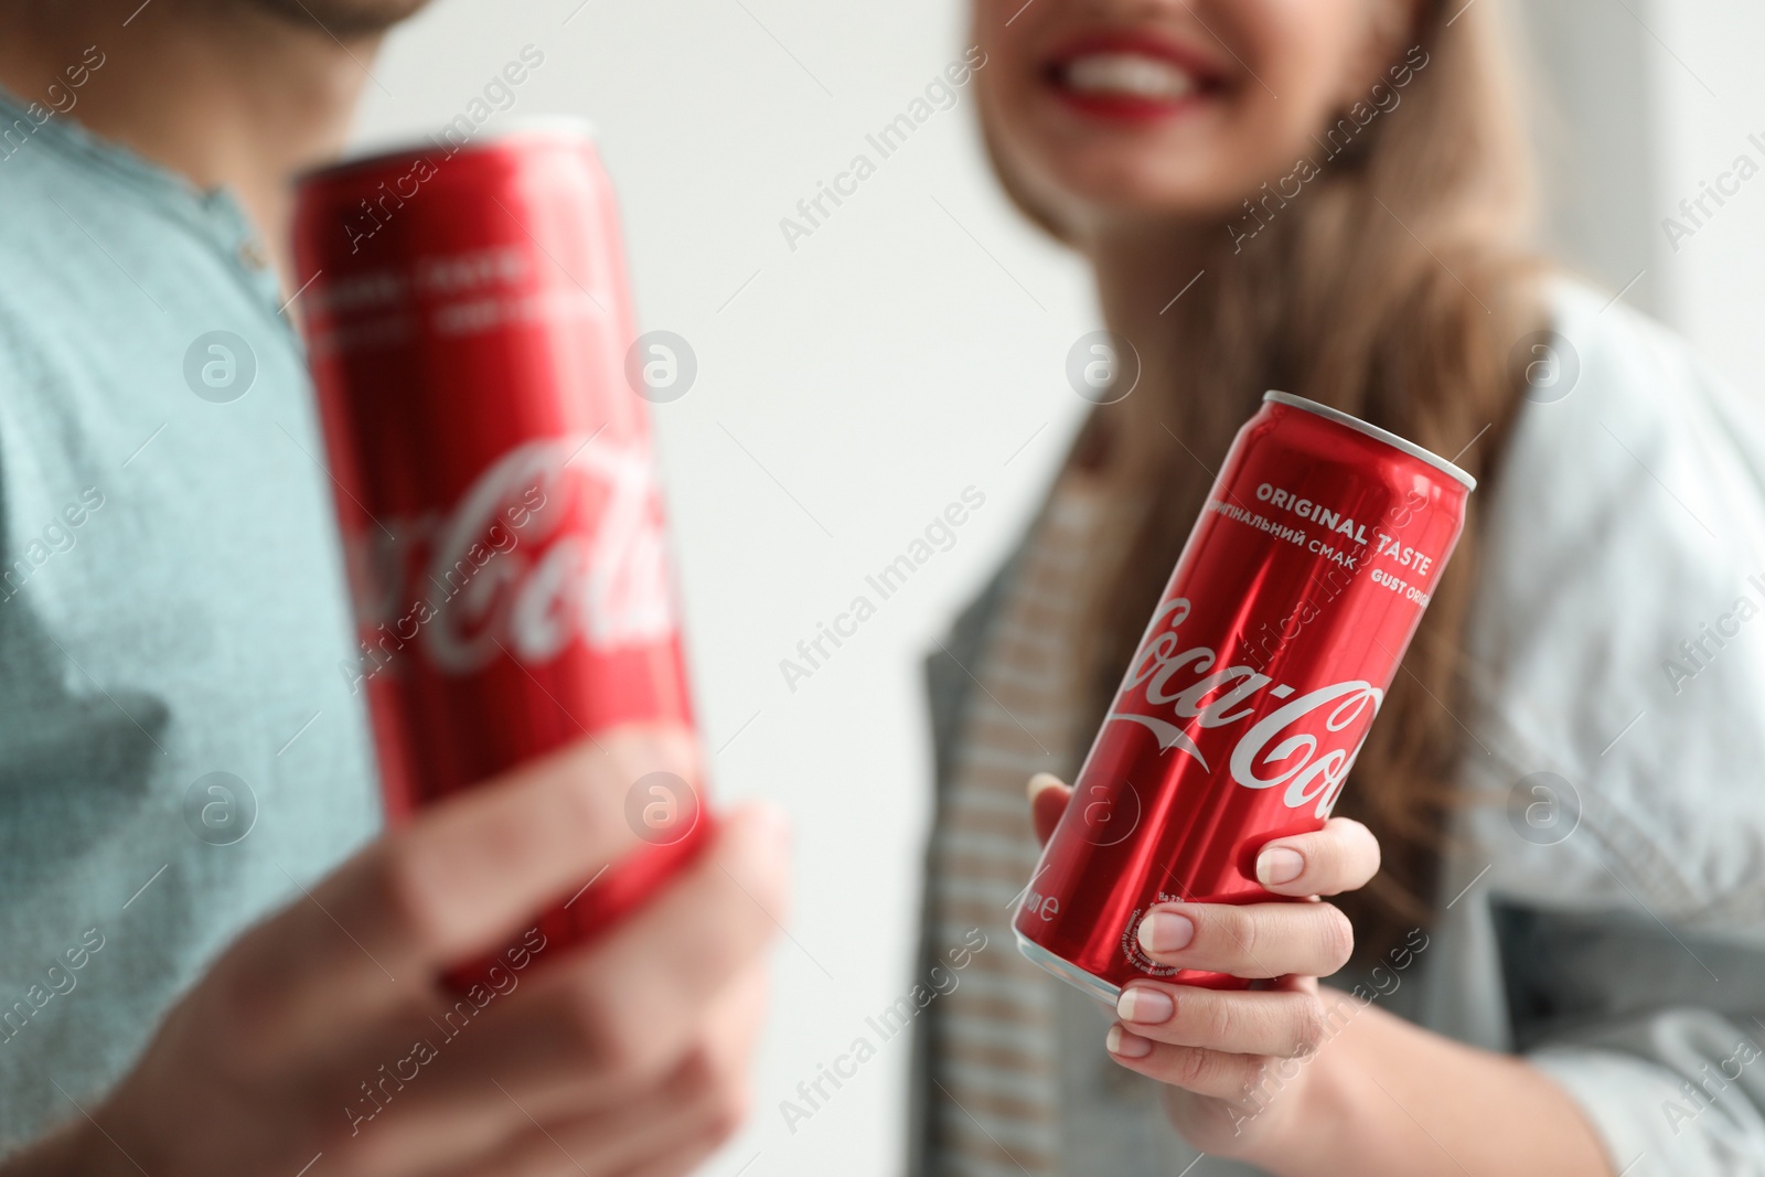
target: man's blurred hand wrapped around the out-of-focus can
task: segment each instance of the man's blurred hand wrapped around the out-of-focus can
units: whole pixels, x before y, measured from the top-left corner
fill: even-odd
[[[685,734],[604,734],[379,838],[245,932],[90,1122],[0,1173],[690,1170],[743,1115],[780,817],[736,810],[651,903],[505,967],[482,1009],[438,981],[637,845],[625,794],[658,769],[697,780]]]

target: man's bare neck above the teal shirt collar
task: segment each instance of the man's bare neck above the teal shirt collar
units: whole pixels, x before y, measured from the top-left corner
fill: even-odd
[[[229,189],[286,281],[289,180],[342,145],[378,37],[337,41],[268,5],[138,5],[0,7],[0,85],[201,189]],[[97,55],[102,65],[72,88]]]

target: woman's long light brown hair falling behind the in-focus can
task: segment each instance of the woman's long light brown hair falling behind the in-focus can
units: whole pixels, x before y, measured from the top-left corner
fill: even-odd
[[[1451,5],[1458,9],[1458,4]],[[1363,960],[1426,926],[1444,817],[1456,799],[1467,665],[1463,635],[1481,563],[1479,501],[1523,392],[1514,346],[1546,326],[1541,263],[1530,249],[1534,189],[1518,79],[1497,0],[1454,16],[1419,5],[1400,49],[1410,74],[1320,129],[1317,155],[1260,189],[1221,226],[1204,277],[1168,309],[1181,372],[1100,408],[1075,455],[1112,450],[1137,431],[1172,443],[1105,466],[1135,529],[1128,558],[1098,575],[1091,637],[1093,706],[1101,718],[1145,618],[1237,427],[1262,392],[1281,388],[1382,425],[1483,480],[1338,813],[1364,821],[1384,847],[1380,875],[1340,905]],[[1401,74],[1400,74],[1401,76]],[[1393,106],[1391,94],[1400,101]],[[1370,115],[1368,111],[1378,111]],[[983,129],[987,111],[981,111]],[[1059,235],[1013,182],[1006,191]],[[1304,176],[1304,178],[1301,178]],[[1297,191],[1296,191],[1297,189]],[[1172,275],[1172,289],[1190,275]],[[1142,446],[1145,448],[1145,446]]]

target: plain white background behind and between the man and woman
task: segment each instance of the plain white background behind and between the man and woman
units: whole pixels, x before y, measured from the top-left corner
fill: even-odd
[[[1493,2],[1493,0],[1486,0]],[[642,328],[697,353],[658,406],[715,787],[794,815],[792,939],[731,1177],[902,1166],[905,1036],[792,1135],[778,1101],[911,983],[928,745],[920,658],[1034,510],[1082,402],[1063,365],[1100,326],[1085,272],[995,192],[973,94],[789,249],[814,196],[965,42],[962,5],[897,0],[445,0],[372,64],[358,139],[427,132],[522,46],[510,113],[588,115],[625,206]],[[1659,221],[1765,139],[1742,0],[1530,5],[1553,233],[1615,291],[1765,379],[1765,176],[1673,254]],[[1670,12],[1666,9],[1671,9]],[[503,118],[499,115],[498,118]],[[1181,284],[1181,282],[1177,282]],[[1172,288],[1175,293],[1175,286]],[[985,506],[808,681],[778,663],[964,487]]]

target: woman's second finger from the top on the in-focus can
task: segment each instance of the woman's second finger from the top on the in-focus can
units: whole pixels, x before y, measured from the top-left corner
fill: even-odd
[[[1329,903],[1160,903],[1137,935],[1161,965],[1251,979],[1329,976],[1354,951],[1348,918]]]

